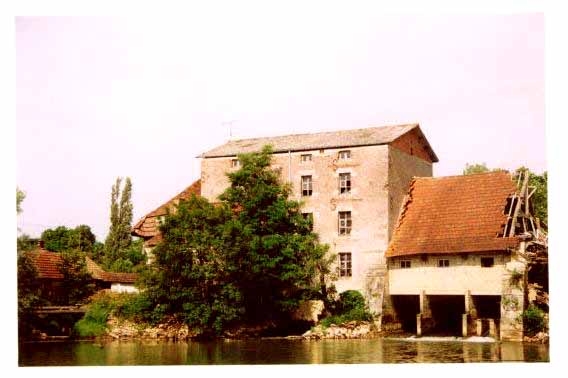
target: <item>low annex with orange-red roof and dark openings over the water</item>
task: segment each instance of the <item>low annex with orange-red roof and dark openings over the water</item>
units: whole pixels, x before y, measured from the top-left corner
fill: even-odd
[[[522,340],[526,250],[539,233],[527,182],[504,171],[413,179],[386,250],[383,320]]]

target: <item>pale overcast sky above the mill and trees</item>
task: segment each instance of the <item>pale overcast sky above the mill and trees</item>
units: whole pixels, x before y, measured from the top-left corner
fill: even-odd
[[[132,179],[136,222],[230,134],[417,122],[435,176],[547,170],[542,14],[272,6],[15,27],[18,227],[31,236],[87,224],[104,241],[116,177]]]

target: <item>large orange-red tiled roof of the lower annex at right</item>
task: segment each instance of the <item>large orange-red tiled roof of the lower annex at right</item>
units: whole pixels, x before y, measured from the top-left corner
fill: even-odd
[[[516,192],[507,172],[415,178],[386,256],[502,251],[518,239],[498,236],[507,198]]]

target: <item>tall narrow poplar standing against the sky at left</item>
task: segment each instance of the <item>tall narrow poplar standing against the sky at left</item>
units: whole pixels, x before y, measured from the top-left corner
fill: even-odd
[[[129,256],[132,244],[130,227],[132,224],[132,182],[127,177],[124,188],[120,189],[122,178],[118,177],[111,191],[110,204],[110,229],[105,240],[104,256],[101,259],[103,266],[110,271],[131,272],[135,265],[140,262],[136,257],[132,261]],[[120,202],[119,202],[120,198]],[[140,246],[140,253],[142,247]]]

